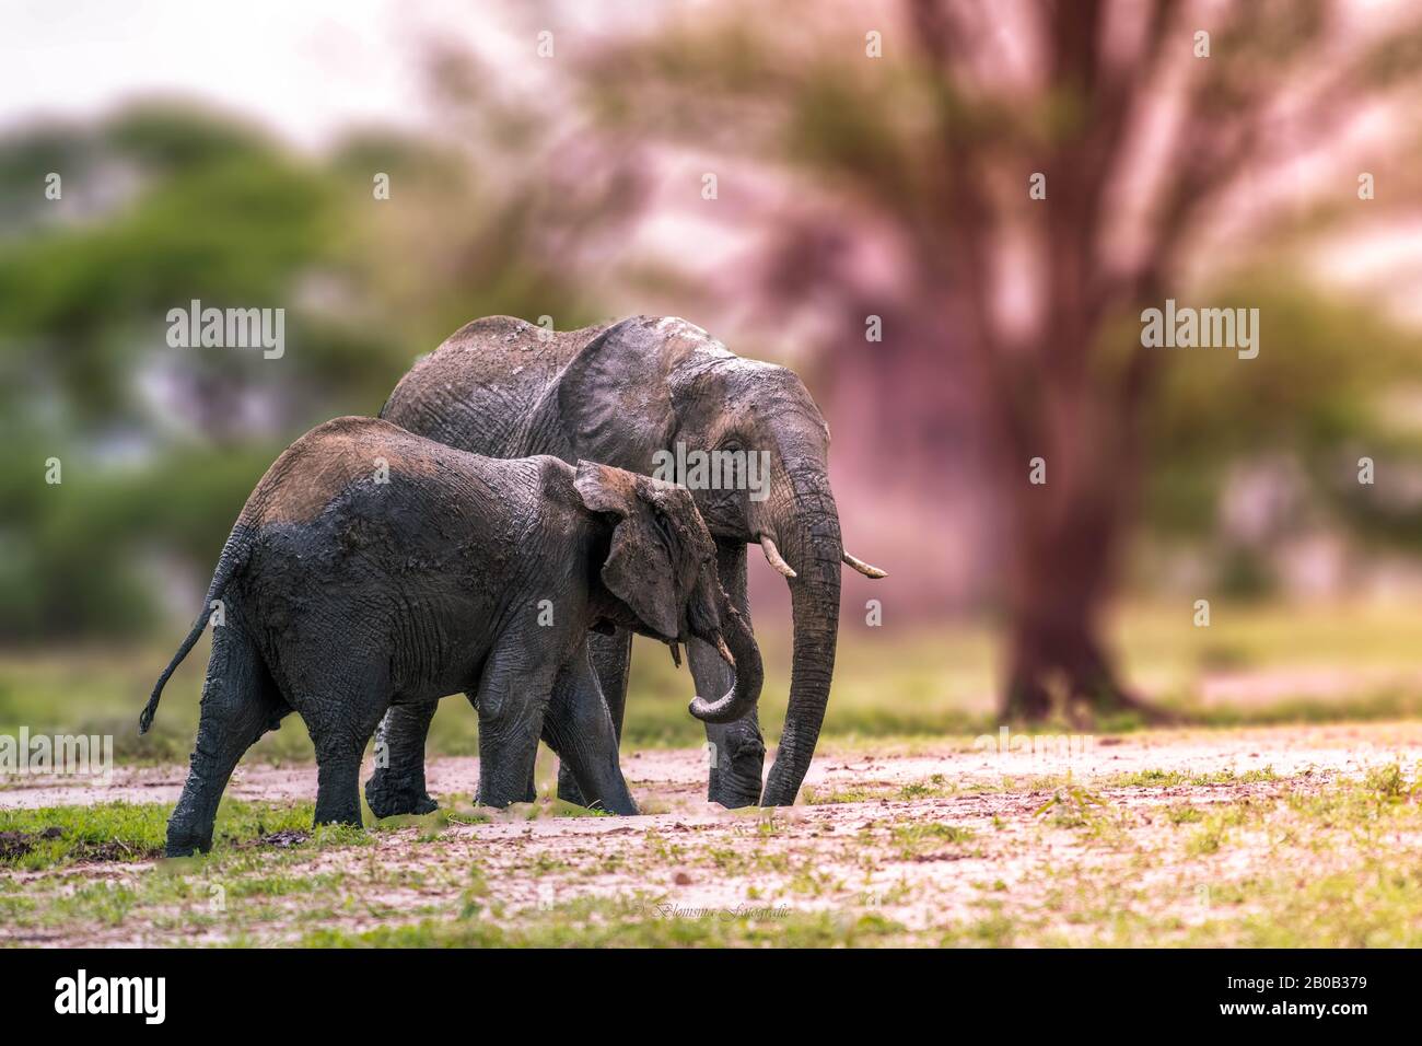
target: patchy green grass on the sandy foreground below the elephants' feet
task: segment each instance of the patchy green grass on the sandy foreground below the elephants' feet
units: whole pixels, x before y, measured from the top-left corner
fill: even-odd
[[[1189,788],[1194,801],[1133,810],[1071,780],[1044,796],[1042,780],[1021,778],[995,786],[1032,797],[1012,831],[981,814],[974,827],[870,805],[833,833],[758,814],[690,831],[633,828],[556,855],[536,834],[445,838],[415,820],[253,845],[304,830],[310,804],[230,803],[209,857],[115,865],[102,878],[77,867],[92,860],[85,847],[156,848],[166,805],[11,811],[0,831],[61,834],[0,874],[0,936],[320,948],[1419,946],[1419,768],[1379,766],[1322,787],[1260,771],[1263,787],[1223,801],[1214,790],[1244,774],[1176,781],[1146,770],[1135,787]],[[557,815],[555,804],[530,811]],[[380,833],[404,833],[415,850],[390,860],[385,847],[360,845]],[[607,862],[610,850],[620,852]],[[971,878],[909,874],[940,861],[968,861]],[[674,885],[683,872],[741,899],[687,909],[677,898],[695,894]],[[589,879],[609,874],[614,882]],[[552,902],[530,902],[529,884],[547,884]],[[927,912],[927,924],[904,925],[899,905]]]

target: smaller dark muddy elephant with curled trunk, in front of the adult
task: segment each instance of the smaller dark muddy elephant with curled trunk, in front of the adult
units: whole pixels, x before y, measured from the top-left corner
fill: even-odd
[[[479,713],[481,803],[533,798],[542,737],[590,801],[634,814],[589,629],[720,650],[735,680],[693,700],[704,722],[744,716],[761,690],[685,490],[587,461],[485,458],[375,418],[311,430],[257,482],[141,733],[218,606],[171,857],[210,848],[233,767],[293,710],[316,746],[317,824],[361,823],[361,757],[388,707],[458,692]]]

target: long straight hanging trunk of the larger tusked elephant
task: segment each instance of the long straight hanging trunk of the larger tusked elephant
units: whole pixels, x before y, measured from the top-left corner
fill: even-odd
[[[761,805],[768,807],[795,803],[825,722],[829,685],[835,675],[839,568],[845,552],[828,475],[822,470],[806,470],[792,474],[789,487],[769,514],[795,574],[786,575],[795,648],[785,729],[761,798]]]

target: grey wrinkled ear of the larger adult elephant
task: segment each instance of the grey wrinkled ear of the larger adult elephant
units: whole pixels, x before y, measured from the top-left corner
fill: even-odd
[[[573,455],[650,472],[675,431],[668,349],[658,320],[607,327],[563,369],[557,408]]]

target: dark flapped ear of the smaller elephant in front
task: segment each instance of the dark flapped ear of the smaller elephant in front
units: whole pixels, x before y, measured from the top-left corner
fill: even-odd
[[[621,468],[579,461],[573,487],[593,512],[617,517],[602,578],[654,635],[675,639],[681,632],[675,568],[657,535],[656,508],[641,497],[647,482]]]

